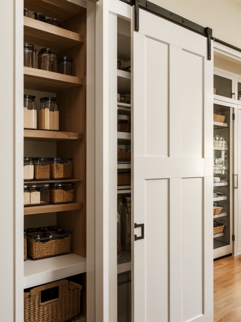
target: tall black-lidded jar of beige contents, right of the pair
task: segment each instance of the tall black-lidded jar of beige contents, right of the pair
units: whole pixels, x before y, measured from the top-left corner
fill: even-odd
[[[39,128],[58,131],[58,107],[55,97],[40,98]]]

